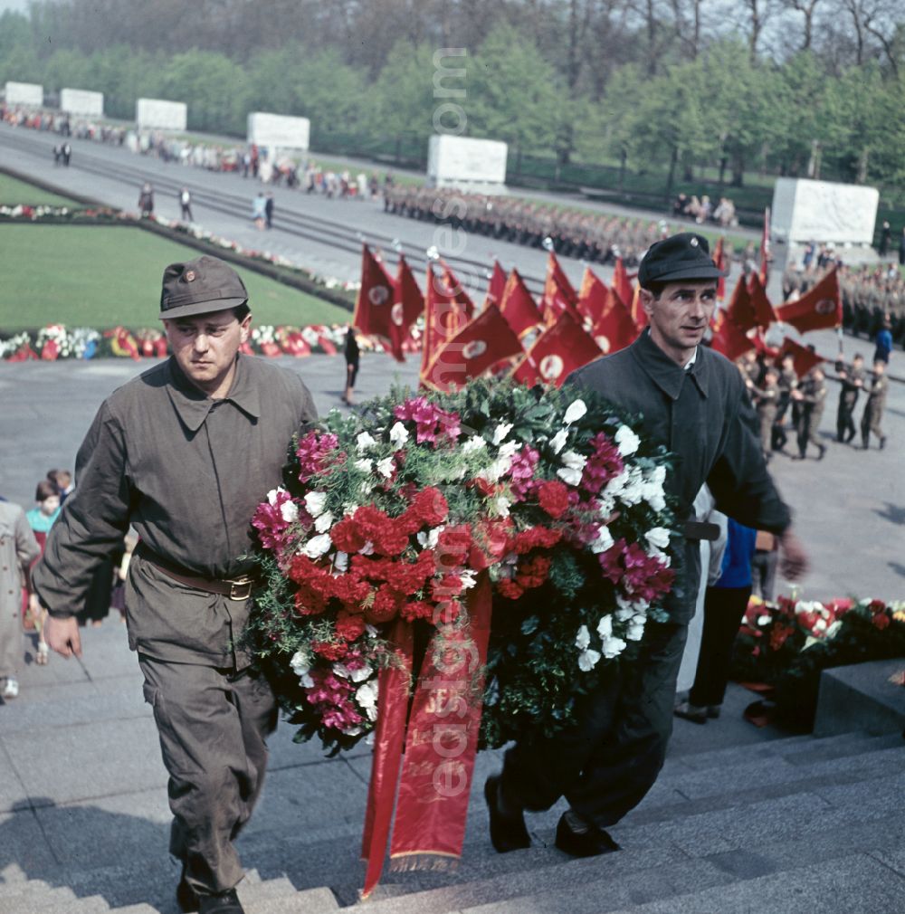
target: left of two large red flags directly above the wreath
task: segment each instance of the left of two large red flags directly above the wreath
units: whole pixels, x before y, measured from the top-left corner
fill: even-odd
[[[435,390],[461,387],[469,377],[479,377],[501,359],[524,353],[518,337],[495,304],[466,324],[434,356],[421,383]]]

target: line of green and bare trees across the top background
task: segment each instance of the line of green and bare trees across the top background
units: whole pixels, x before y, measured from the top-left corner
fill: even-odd
[[[49,0],[0,16],[0,80],[312,122],[315,149],[423,162],[441,123],[512,165],[905,186],[896,0]],[[441,48],[458,48],[447,56]],[[448,68],[441,79],[439,68]],[[439,87],[439,90],[438,90]],[[452,90],[452,91],[451,91]]]

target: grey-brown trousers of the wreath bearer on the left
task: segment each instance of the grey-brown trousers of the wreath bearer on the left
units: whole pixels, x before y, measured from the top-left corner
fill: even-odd
[[[170,776],[170,853],[199,894],[218,894],[243,876],[233,841],[261,793],[276,701],[249,669],[169,664],[145,654],[139,665]]]

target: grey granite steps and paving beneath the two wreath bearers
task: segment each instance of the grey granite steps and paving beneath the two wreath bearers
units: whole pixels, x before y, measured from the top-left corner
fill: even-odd
[[[87,632],[82,661],[28,665],[0,707],[0,914],[176,912],[165,773],[123,640],[115,622]],[[902,735],[755,731],[728,719],[746,700],[733,687],[727,719],[676,722],[654,790],[612,829],[618,854],[562,855],[559,807],[529,817],[531,848],[496,855],[481,788],[499,760],[485,753],[461,866],[388,873],[364,902],[367,749],[325,760],[281,728],[239,842],[240,898],[248,914],[905,912]]]

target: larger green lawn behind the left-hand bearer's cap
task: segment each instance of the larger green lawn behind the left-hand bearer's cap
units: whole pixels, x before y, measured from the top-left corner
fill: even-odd
[[[140,228],[0,225],[0,330],[157,326],[164,268],[198,251]],[[334,324],[335,304],[239,270],[256,324]]]

